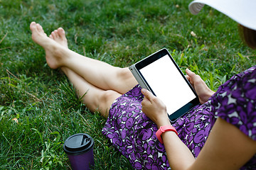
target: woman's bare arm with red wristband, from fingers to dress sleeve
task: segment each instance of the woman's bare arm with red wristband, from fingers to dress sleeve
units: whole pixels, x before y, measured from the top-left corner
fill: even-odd
[[[146,89],[142,93],[142,111],[158,128],[171,125],[164,103]],[[256,142],[221,118],[213,125],[197,159],[174,132],[164,132],[161,137],[172,169],[239,169],[256,153]]]

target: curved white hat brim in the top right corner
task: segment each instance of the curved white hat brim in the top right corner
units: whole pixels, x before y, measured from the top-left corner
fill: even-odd
[[[195,0],[188,8],[196,15],[205,4],[224,13],[242,26],[256,30],[256,0]]]

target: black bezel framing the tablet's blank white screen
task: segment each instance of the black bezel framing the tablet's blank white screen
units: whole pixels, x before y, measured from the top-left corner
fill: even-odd
[[[199,98],[198,98],[198,95],[196,94],[196,91],[193,89],[193,87],[191,86],[189,81],[186,79],[186,77],[183,74],[183,72],[181,72],[181,69],[178,67],[178,64],[176,64],[174,58],[171,57],[171,54],[168,52],[168,50],[166,50],[166,48],[164,48],[164,49],[159,50],[158,52],[155,52],[152,55],[149,55],[149,57],[146,57],[144,60],[142,60],[140,62],[137,62],[136,64],[134,64],[134,67],[135,67],[135,69],[137,69],[137,72],[139,73],[140,77],[142,77],[142,79],[144,80],[146,86],[148,86],[149,90],[152,92],[152,94],[154,94],[154,91],[151,89],[151,87],[149,86],[149,84],[146,81],[146,79],[144,79],[144,76],[143,76],[142,72],[140,72],[140,69],[146,67],[147,65],[151,64],[152,62],[155,62],[156,60],[159,60],[161,57],[164,57],[165,55],[169,56],[171,61],[176,66],[176,69],[178,69],[178,72],[183,77],[184,81],[186,81],[186,83],[190,87],[191,91],[193,91],[193,94],[195,94],[195,96],[196,96],[196,98],[194,98],[192,101],[186,103],[186,105],[184,105],[183,107],[179,108],[178,111],[175,111],[174,113],[171,113],[169,115],[169,120],[171,122],[174,122],[177,118],[181,117],[183,114],[185,114],[188,111],[190,111],[194,106],[199,104]],[[156,94],[154,94],[154,96],[156,96]]]

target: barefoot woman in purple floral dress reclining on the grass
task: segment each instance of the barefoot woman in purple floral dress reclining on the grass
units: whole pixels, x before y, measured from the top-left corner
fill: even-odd
[[[223,13],[228,11],[228,15],[228,2],[241,7],[231,0],[226,4],[202,0],[193,1],[192,11],[202,8],[199,4],[198,10],[196,2]],[[231,8],[231,15],[238,11],[235,7]],[[243,8],[240,11],[246,13]],[[242,27],[245,41],[256,47],[255,21],[235,21],[250,28]],[[63,28],[54,30],[50,38],[38,23],[32,22],[30,28],[32,39],[46,50],[49,67],[62,69],[87,108],[107,117],[103,134],[134,169],[256,169],[256,66],[235,75],[215,93],[198,75],[186,69],[201,105],[171,126],[164,103],[141,89],[129,69],[112,67],[69,50]],[[163,128],[169,131],[161,132]]]

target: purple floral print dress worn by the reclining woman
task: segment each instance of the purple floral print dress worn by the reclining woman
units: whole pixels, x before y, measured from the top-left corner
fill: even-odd
[[[134,169],[170,169],[164,145],[156,138],[156,125],[142,113],[141,87],[117,98],[102,133]],[[208,102],[172,123],[178,137],[198,157],[216,118],[223,118],[256,140],[256,66],[235,75]],[[256,156],[241,169],[256,169]]]

